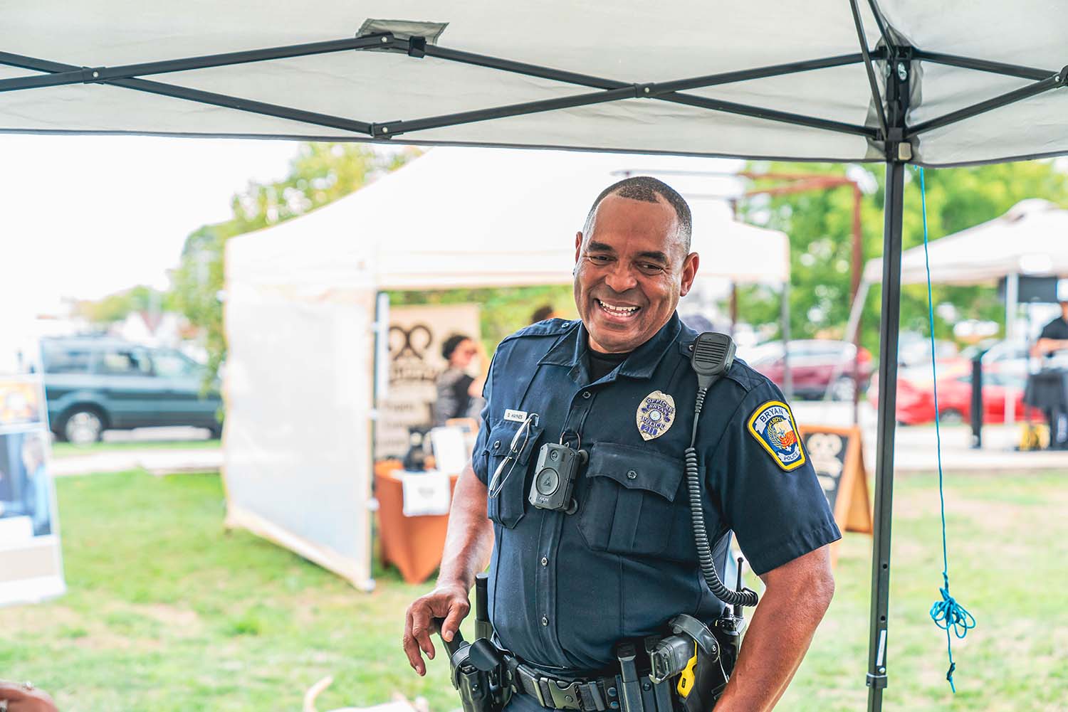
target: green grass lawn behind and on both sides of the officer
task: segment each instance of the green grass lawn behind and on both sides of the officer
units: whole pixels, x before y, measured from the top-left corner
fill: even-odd
[[[1068,709],[1068,476],[953,476],[953,592],[979,621],[955,640],[927,616],[941,585],[937,479],[902,476],[895,495],[888,710]],[[428,588],[377,571],[361,594],[294,554],[222,529],[215,474],[131,472],[61,479],[69,592],[0,610],[0,677],[53,691],[61,709],[320,710],[424,695],[458,707],[440,656],[410,671],[402,615]],[[781,710],[862,710],[870,538],[847,535],[837,594]]]

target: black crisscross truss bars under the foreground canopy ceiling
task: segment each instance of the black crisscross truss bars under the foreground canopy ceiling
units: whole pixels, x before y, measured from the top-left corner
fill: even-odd
[[[1068,66],[1059,70],[1041,69],[1036,67],[1006,64],[1002,62],[990,62],[975,58],[924,51],[908,45],[895,45],[886,36],[885,28],[881,22],[880,29],[883,33],[884,44],[881,44],[878,49],[868,49],[861,25],[861,16],[859,10],[857,9],[857,0],[852,0],[852,9],[853,18],[858,27],[858,37],[861,48],[860,52],[775,64],[753,69],[690,77],[665,82],[643,83],[606,79],[602,77],[594,77],[591,75],[578,74],[575,72],[567,72],[547,66],[516,62],[498,57],[477,54],[459,49],[439,47],[435,44],[430,44],[425,36],[398,36],[392,32],[381,32],[363,34],[355,38],[289,45],[286,47],[269,47],[263,49],[226,52],[222,54],[206,54],[202,57],[127,64],[113,67],[76,66],[72,64],[52,62],[46,59],[0,51],[0,64],[21,69],[47,73],[44,75],[29,77],[0,79],[0,93],[64,86],[70,84],[109,84],[135,92],[158,94],[161,96],[235,109],[265,116],[286,118],[318,127],[341,129],[356,135],[361,135],[366,139],[379,140],[392,139],[405,135],[410,136],[428,129],[457,126],[460,124],[471,124],[494,118],[505,118],[508,116],[560,111],[576,107],[621,101],[623,99],[644,98],[694,107],[712,112],[733,113],[753,118],[805,126],[824,131],[860,136],[868,139],[869,141],[885,144],[888,140],[892,140],[890,139],[892,129],[896,130],[897,128],[900,128],[901,133],[896,138],[896,142],[906,143],[932,129],[949,126],[967,118],[971,118],[972,116],[993,111],[1001,107],[1015,104],[1068,84]],[[233,66],[253,62],[268,62],[271,60],[310,57],[314,54],[328,54],[352,50],[390,51],[406,54],[412,59],[431,57],[445,62],[456,62],[497,69],[500,72],[524,75],[528,77],[537,77],[572,86],[595,89],[597,91],[555,99],[487,107],[484,109],[436,116],[373,122],[305,111],[294,107],[279,106],[241,98],[238,96],[230,96],[226,94],[218,94],[143,79],[143,77],[153,75]],[[905,82],[907,80],[909,67],[911,67],[913,62],[930,62],[934,64],[973,69],[976,72],[988,72],[1007,77],[1027,79],[1031,80],[1032,83],[1011,92],[1006,92],[961,109],[947,112],[940,116],[929,118],[913,126],[892,127],[888,124],[888,110],[883,107],[883,101],[879,98],[879,86],[876,78],[876,68],[874,66],[875,62],[880,62],[885,68],[888,85],[893,83],[891,81],[893,79],[891,74],[897,77],[897,81]],[[725,101],[686,93],[688,90],[708,89],[711,86],[752,81],[755,79],[783,77],[802,72],[813,72],[816,69],[826,69],[830,67],[862,63],[867,72],[874,96],[873,106],[876,109],[879,120],[878,126],[876,127],[850,124],[842,121],[832,121],[814,115],[780,111],[776,109]],[[911,151],[901,155],[900,159],[910,160]]]

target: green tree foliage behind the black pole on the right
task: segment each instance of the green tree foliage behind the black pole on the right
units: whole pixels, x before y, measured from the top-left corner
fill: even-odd
[[[864,260],[882,254],[882,208],[885,180],[867,165],[759,163],[754,172],[848,175],[866,189],[861,205]],[[1022,161],[958,169],[926,170],[929,239],[957,233],[1004,215],[1021,200],[1042,197],[1068,206],[1068,176],[1050,161]],[[757,181],[756,189],[771,187]],[[775,197],[754,196],[743,206],[747,222],[781,230],[790,239],[790,331],[794,338],[841,337],[850,308],[852,191],[848,187]],[[1051,236],[1053,239],[1054,236]],[[902,247],[923,243],[920,179],[906,173]],[[1004,322],[1004,306],[990,286],[933,285],[934,304],[952,304],[957,319]],[[778,292],[761,287],[739,290],[740,318],[754,325],[775,323]],[[873,287],[863,313],[862,344],[878,347],[879,287]],[[925,285],[906,285],[901,294],[901,329],[926,333]],[[952,337],[953,323],[936,315],[936,335]]]

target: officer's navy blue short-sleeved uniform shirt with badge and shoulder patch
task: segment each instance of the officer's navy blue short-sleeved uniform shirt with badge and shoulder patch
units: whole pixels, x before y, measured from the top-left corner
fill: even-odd
[[[581,321],[541,321],[498,347],[472,458],[484,484],[521,421],[537,414],[488,502],[490,618],[520,659],[547,670],[598,670],[621,638],[657,632],[679,613],[719,615],[697,564],[682,459],[697,390],[688,348],[695,337],[673,316],[598,381]],[[756,573],[841,537],[782,401],[771,381],[735,361],[709,390],[698,426],[717,560],[733,531]],[[561,441],[590,454],[572,515],[528,502],[538,448]]]

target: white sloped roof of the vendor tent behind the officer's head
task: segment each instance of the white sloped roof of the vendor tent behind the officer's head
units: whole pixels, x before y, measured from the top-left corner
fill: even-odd
[[[737,161],[434,148],[352,195],[233,238],[227,281],[308,289],[570,284],[575,235],[594,197],[644,174],[688,199],[698,279],[782,284],[786,235],[735,222],[724,201],[707,197],[735,184],[723,175],[732,168]]]

